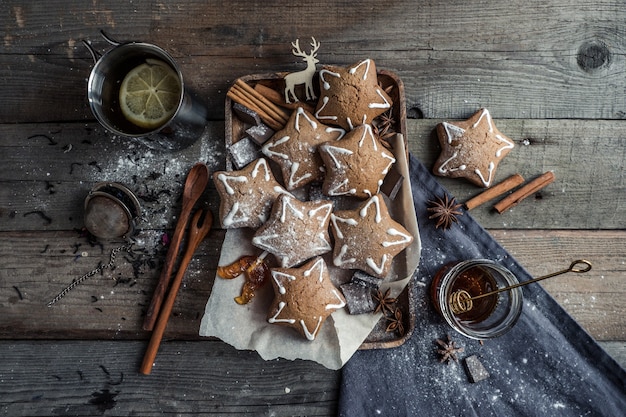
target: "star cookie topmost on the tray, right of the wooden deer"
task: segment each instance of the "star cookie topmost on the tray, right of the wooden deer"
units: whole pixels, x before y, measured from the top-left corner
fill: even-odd
[[[391,108],[391,97],[378,85],[376,64],[365,59],[349,67],[326,66],[319,72],[320,98],[315,117],[351,130]]]

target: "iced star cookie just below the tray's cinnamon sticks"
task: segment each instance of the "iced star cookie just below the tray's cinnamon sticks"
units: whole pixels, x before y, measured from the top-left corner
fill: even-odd
[[[319,145],[340,139],[341,128],[322,124],[311,113],[298,107],[284,129],[276,132],[261,151],[280,166],[287,190],[294,190],[324,176],[324,164],[317,152]]]

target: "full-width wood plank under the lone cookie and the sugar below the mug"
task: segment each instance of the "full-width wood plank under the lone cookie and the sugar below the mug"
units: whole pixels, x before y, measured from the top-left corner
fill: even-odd
[[[434,128],[441,119],[409,120],[409,150],[428,168],[439,153]],[[624,121],[496,120],[517,147],[501,162],[496,179],[519,172],[531,179],[554,170],[556,181],[535,198],[503,214],[494,202],[471,211],[486,228],[620,229],[626,219]],[[0,125],[1,230],[71,230],[82,227],[82,200],[97,181],[119,181],[145,208],[142,228],[172,226],[182,183],[197,161],[223,169],[222,122],[210,122],[192,147],[151,151],[110,137],[93,123]],[[71,146],[71,150],[67,149]],[[35,157],[35,155],[37,155]],[[584,167],[584,168],[581,168]],[[462,180],[438,178],[459,201],[482,191]],[[158,202],[152,197],[158,197]],[[216,209],[211,185],[204,201]],[[42,211],[52,221],[38,215]]]

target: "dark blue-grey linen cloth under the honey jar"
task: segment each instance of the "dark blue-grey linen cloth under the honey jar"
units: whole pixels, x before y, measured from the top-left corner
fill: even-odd
[[[444,231],[428,219],[427,201],[446,193],[410,158],[422,239],[416,327],[402,346],[362,350],[342,370],[338,414],[349,416],[620,416],[626,415],[626,372],[539,284],[523,287],[522,315],[505,335],[484,341],[452,330],[434,310],[429,284],[447,262],[492,259],[520,281],[532,277],[469,213]],[[555,268],[572,259],[555,259]],[[459,362],[439,362],[435,339],[449,334],[464,348]],[[471,383],[464,359],[476,355],[489,378]]]

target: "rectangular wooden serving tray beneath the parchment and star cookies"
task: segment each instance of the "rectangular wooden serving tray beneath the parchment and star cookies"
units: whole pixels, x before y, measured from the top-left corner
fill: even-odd
[[[282,94],[284,90],[283,77],[287,73],[268,73],[268,74],[252,74],[241,77],[239,80],[244,81],[250,86],[254,86],[257,83],[263,84],[266,87],[272,88]],[[379,85],[385,89],[391,99],[393,105],[391,108],[392,116],[395,121],[394,130],[396,133],[401,134],[404,142],[405,157],[408,158],[408,146],[406,141],[406,101],[404,96],[404,85],[400,78],[393,72],[386,70],[379,70],[377,72]],[[319,86],[318,76],[313,81],[315,86]],[[390,90],[388,88],[391,87]],[[299,89],[300,88],[300,89]],[[302,86],[296,87],[296,94],[298,97],[304,97],[304,90]],[[319,91],[316,91],[319,96]],[[306,102],[307,104],[315,107],[315,103]],[[242,122],[236,115],[233,114],[233,101],[227,97],[225,102],[225,142],[226,148],[245,136],[245,131],[250,125]],[[233,170],[234,165],[228,152],[226,152],[226,169]],[[269,159],[268,159],[269,161]],[[270,162],[273,164],[273,162]],[[276,176],[277,180],[281,180],[281,175]],[[408,181],[408,176],[405,176],[405,181]],[[408,184],[408,183],[407,183]],[[403,184],[406,186],[406,184]],[[418,237],[416,237],[418,238]],[[402,311],[402,324],[404,326],[404,334],[398,335],[396,332],[387,332],[388,325],[385,317],[382,317],[374,329],[371,331],[366,340],[362,343],[359,349],[387,349],[402,345],[413,333],[415,329],[415,292],[416,283],[414,277],[412,277],[404,290],[397,297],[396,306]],[[368,313],[366,313],[368,314]]]

